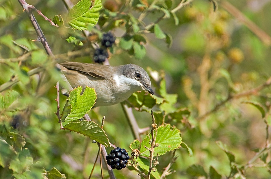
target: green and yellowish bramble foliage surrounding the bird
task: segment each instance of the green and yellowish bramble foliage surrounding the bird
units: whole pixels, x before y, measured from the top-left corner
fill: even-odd
[[[130,146],[131,172],[116,178],[270,178],[270,3],[63,0],[23,12],[18,2],[0,1],[0,178],[88,178],[98,151],[89,138],[107,152],[109,141]],[[29,9],[54,56],[45,38],[33,40]],[[138,131],[120,104],[93,109],[93,88],[57,98],[55,64],[93,62],[108,31],[116,41],[107,62],[138,64],[152,81],[155,95],[121,104]],[[87,113],[93,121],[81,120]],[[92,178],[101,178],[97,166]]]

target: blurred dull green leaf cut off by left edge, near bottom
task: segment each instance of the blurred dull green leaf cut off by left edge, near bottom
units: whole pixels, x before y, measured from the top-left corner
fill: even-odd
[[[16,157],[15,150],[0,137],[0,165],[5,167],[9,161]]]

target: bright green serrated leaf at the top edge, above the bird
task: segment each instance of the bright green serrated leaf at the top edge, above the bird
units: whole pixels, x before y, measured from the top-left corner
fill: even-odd
[[[95,0],[93,6],[91,0],[81,0],[71,8],[68,24],[74,29],[87,30],[86,23],[89,23],[92,26],[97,24],[100,16],[99,11],[101,9],[101,0]]]

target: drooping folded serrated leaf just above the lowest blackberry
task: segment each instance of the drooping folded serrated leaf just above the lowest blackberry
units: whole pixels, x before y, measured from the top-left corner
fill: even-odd
[[[109,140],[105,131],[93,121],[82,120],[80,122],[70,122],[63,126],[63,129],[83,134],[84,136],[90,137],[106,147],[109,146]]]

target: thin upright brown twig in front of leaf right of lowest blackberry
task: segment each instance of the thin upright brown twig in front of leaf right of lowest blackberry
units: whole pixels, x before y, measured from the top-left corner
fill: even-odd
[[[151,115],[152,115],[153,123],[152,123],[152,129],[150,131],[150,133],[152,135],[150,149],[148,149],[146,146],[144,146],[145,148],[147,148],[150,151],[150,167],[149,167],[149,172],[148,172],[147,177],[146,177],[147,179],[150,179],[150,173],[154,168],[154,166],[153,166],[154,147],[157,147],[159,145],[159,144],[155,143],[156,135],[157,135],[157,124],[155,123],[155,118],[154,118],[154,115],[153,115],[153,111],[151,112]]]

